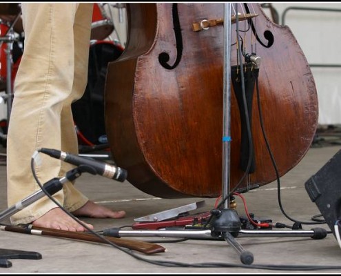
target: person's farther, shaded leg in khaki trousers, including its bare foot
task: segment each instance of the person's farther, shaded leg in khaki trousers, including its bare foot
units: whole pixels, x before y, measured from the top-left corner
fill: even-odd
[[[74,82],[72,93],[61,113],[61,148],[65,152],[78,154],[79,144],[76,136],[76,129],[72,117],[71,103],[81,99],[87,85],[87,69],[90,50],[90,33],[93,3],[80,3],[74,18]],[[73,167],[62,162],[62,175]],[[81,184],[80,184],[81,185]],[[92,201],[84,203],[83,196],[71,183],[64,185],[65,208],[74,215],[82,217],[110,217],[120,218],[125,216],[124,211],[113,211]],[[94,187],[96,189],[96,187]]]

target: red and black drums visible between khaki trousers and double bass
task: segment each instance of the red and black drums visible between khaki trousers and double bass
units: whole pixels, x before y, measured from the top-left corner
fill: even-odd
[[[113,19],[107,16],[105,3],[94,3],[87,87],[83,97],[72,103],[80,152],[86,152],[88,149],[108,149],[104,121],[107,64],[123,52],[122,43],[110,38],[115,29],[113,22]]]

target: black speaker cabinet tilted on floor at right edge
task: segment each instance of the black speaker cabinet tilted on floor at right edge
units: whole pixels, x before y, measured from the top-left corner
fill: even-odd
[[[335,221],[341,219],[341,150],[310,177],[304,186],[335,235]]]

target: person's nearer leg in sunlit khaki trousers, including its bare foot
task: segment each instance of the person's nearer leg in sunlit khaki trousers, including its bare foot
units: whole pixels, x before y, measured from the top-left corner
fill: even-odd
[[[76,3],[22,3],[25,50],[14,83],[8,129],[8,206],[40,189],[30,169],[34,150],[61,148],[61,112],[65,99],[70,97],[74,77],[72,26],[77,6]],[[60,175],[60,160],[43,154],[41,160],[36,172],[42,184]],[[64,204],[63,191],[54,198]],[[86,202],[84,197],[81,204]],[[14,214],[11,221],[27,224],[51,213],[58,213],[59,217],[54,215],[54,221],[44,226],[64,228],[66,224],[70,230],[84,230],[46,197]]]

